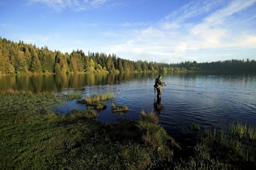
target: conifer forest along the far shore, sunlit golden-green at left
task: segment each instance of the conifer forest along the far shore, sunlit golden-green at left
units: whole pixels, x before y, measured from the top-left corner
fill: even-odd
[[[156,63],[130,61],[115,54],[82,50],[62,53],[48,47],[36,47],[23,41],[13,42],[0,37],[0,74],[30,73],[110,73],[110,72],[178,72],[178,71],[239,71],[256,72],[255,60],[224,60],[210,63]]]

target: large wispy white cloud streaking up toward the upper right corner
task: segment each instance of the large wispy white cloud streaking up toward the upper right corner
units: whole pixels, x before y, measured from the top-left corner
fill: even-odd
[[[255,49],[256,30],[249,28],[252,31],[248,31],[244,27],[255,18],[255,12],[246,15],[250,15],[250,19],[240,15],[254,6],[255,2],[190,2],[155,25],[137,30],[137,34],[130,34],[130,39],[111,45],[112,51],[116,54],[140,54],[145,59],[147,56],[161,55],[171,62],[178,59],[198,59],[196,55],[207,49],[212,49],[213,54],[220,49]]]

